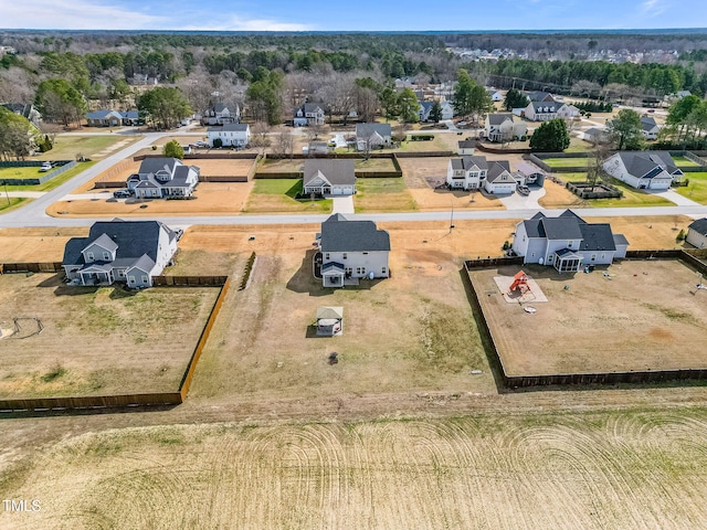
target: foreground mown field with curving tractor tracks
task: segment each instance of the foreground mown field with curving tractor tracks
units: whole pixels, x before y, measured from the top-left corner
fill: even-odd
[[[8,530],[700,528],[704,409],[169,425],[57,441],[0,481]]]

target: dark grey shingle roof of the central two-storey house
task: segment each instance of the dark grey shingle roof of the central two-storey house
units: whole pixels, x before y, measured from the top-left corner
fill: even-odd
[[[341,214],[321,223],[321,252],[390,251],[390,235],[372,221],[349,221]]]

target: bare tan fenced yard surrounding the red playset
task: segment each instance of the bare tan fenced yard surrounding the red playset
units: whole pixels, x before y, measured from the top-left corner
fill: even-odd
[[[574,275],[526,265],[548,298],[529,303],[536,314],[506,303],[493,282],[519,268],[472,273],[508,375],[707,367],[695,347],[707,328],[707,292],[695,289],[699,277],[682,262],[624,261]]]

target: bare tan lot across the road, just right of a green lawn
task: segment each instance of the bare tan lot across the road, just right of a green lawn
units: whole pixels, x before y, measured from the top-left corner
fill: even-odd
[[[402,178],[420,211],[444,211],[465,209],[503,210],[504,205],[495,197],[466,191],[435,190],[433,182],[444,183],[450,159],[446,157],[400,158]],[[473,199],[473,201],[472,201]]]

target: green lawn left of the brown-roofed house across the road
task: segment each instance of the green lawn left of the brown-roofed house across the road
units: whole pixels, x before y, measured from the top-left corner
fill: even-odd
[[[243,210],[246,213],[329,213],[331,199],[295,199],[302,179],[256,179]]]

